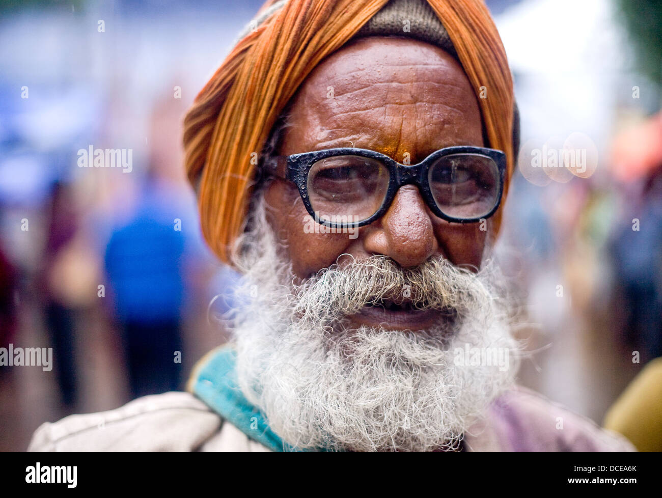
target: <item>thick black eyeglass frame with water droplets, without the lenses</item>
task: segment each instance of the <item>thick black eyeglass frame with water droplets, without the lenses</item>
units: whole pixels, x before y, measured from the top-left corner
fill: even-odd
[[[446,215],[446,213],[439,209],[437,202],[434,200],[434,195],[432,195],[432,191],[430,190],[430,183],[428,178],[430,166],[432,166],[435,160],[438,160],[444,156],[451,156],[453,154],[476,154],[479,156],[487,156],[495,162],[498,169],[498,194],[494,207],[487,214],[474,218],[457,218]],[[307,195],[308,172],[310,172],[310,168],[312,168],[316,162],[334,156],[360,156],[379,160],[387,168],[387,170],[389,170],[389,186],[384,195],[384,200],[381,204],[381,207],[379,207],[379,209],[377,209],[377,211],[375,211],[371,217],[355,223],[336,223],[328,220],[318,219],[317,213],[314,211],[314,209],[312,209],[310,198]],[[432,213],[434,213],[434,215],[440,219],[446,220],[450,223],[466,224],[478,223],[483,219],[488,219],[496,213],[496,210],[501,204],[501,199],[503,196],[504,179],[506,175],[506,154],[501,150],[484,147],[451,146],[432,152],[432,154],[430,154],[418,164],[408,165],[401,164],[393,158],[390,158],[389,156],[381,154],[375,150],[355,147],[339,147],[323,150],[312,150],[310,152],[301,152],[299,154],[291,154],[290,156],[269,156],[263,160],[262,168],[263,171],[267,174],[294,183],[299,190],[299,195],[301,196],[301,200],[303,201],[308,214],[314,219],[314,221],[316,221],[316,223],[323,224],[324,226],[328,226],[330,228],[357,228],[359,226],[365,226],[367,224],[373,223],[374,221],[377,221],[387,213],[391,207],[391,204],[393,204],[393,200],[395,199],[397,191],[403,185],[416,185],[426,205],[430,208]]]

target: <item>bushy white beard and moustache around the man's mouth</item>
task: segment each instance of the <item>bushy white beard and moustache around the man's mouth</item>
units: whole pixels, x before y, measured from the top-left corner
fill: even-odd
[[[263,203],[239,243],[247,250],[236,258],[246,301],[234,330],[238,381],[283,441],[301,449],[451,450],[514,383],[518,342],[492,285],[495,268],[474,274],[436,260],[403,271],[373,256],[295,285]],[[414,302],[453,309],[455,325],[344,326],[344,317],[403,285]],[[466,344],[506,348],[508,368],[455,361]]]

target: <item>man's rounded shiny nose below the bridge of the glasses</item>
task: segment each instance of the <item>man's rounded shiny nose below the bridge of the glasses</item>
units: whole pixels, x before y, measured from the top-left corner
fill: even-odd
[[[438,250],[432,220],[426,204],[414,185],[403,185],[389,211],[363,242],[371,254],[383,254],[403,268],[425,262]]]

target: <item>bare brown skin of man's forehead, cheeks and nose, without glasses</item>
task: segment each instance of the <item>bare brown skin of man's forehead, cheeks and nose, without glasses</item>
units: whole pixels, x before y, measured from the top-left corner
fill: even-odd
[[[289,124],[277,151],[283,156],[354,146],[401,163],[408,152],[416,164],[444,147],[484,146],[477,98],[459,63],[441,48],[393,36],[361,38],[326,58],[297,91]],[[265,200],[267,219],[301,279],[342,264],[344,254],[355,260],[383,254],[403,268],[441,256],[475,269],[489,233],[479,223],[436,217],[414,185],[401,187],[386,215],[358,228],[357,238],[305,233],[309,215],[289,181],[275,179]]]

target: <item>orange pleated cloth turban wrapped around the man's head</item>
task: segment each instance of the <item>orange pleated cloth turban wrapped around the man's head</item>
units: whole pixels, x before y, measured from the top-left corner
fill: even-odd
[[[205,239],[224,262],[244,230],[259,155],[297,88],[322,59],[342,47],[388,0],[289,0],[258,14],[195,99],[184,121],[185,166],[199,183]],[[488,146],[514,165],[512,77],[483,0],[428,0],[448,31],[478,98]],[[507,183],[506,187],[507,188]],[[504,195],[505,195],[504,188]],[[500,225],[501,209],[495,215]]]

